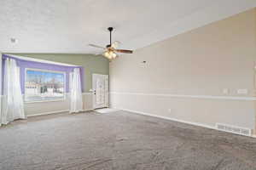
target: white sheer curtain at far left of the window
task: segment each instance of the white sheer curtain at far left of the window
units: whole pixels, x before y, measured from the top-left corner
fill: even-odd
[[[16,65],[15,59],[5,60],[1,109],[0,126],[15,119],[26,118],[20,88],[20,68]]]

